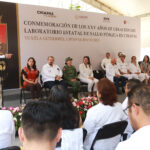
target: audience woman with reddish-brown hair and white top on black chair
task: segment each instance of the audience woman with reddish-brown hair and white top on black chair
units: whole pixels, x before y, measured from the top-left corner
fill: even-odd
[[[91,148],[98,130],[104,125],[127,119],[121,104],[117,100],[116,87],[113,82],[107,78],[101,79],[97,83],[97,96],[99,104],[88,110],[83,124],[83,127],[87,130],[84,150]],[[99,150],[99,148],[101,150],[114,150],[119,142],[120,136],[99,140],[95,143],[94,150]]]

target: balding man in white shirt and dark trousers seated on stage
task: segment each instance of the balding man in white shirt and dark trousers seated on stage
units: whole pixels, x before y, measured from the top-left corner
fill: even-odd
[[[106,77],[115,83],[118,94],[121,94],[121,91],[119,90],[119,82],[121,81],[122,92],[124,92],[124,86],[127,78],[120,75],[115,58],[112,58],[111,63],[106,67]]]

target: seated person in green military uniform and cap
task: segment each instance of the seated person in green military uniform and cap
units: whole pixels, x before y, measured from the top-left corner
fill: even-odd
[[[72,66],[72,58],[67,57],[65,61],[65,66],[63,68],[63,77],[67,84],[72,86],[73,96],[78,98],[78,92],[80,91],[80,82],[77,80],[77,71],[74,66]]]

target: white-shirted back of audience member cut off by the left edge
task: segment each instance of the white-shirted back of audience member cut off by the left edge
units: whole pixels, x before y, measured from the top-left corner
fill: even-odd
[[[0,110],[0,149],[12,146],[15,141],[13,116],[8,110]]]

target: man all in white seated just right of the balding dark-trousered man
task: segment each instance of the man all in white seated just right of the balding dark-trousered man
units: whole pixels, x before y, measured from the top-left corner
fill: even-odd
[[[118,69],[119,69],[119,72],[122,76],[128,78],[128,79],[132,79],[132,78],[137,78],[137,75],[136,74],[131,74],[129,69],[128,69],[128,65],[127,63],[125,62],[125,55],[122,53],[120,55],[120,60],[121,62],[118,64]]]

